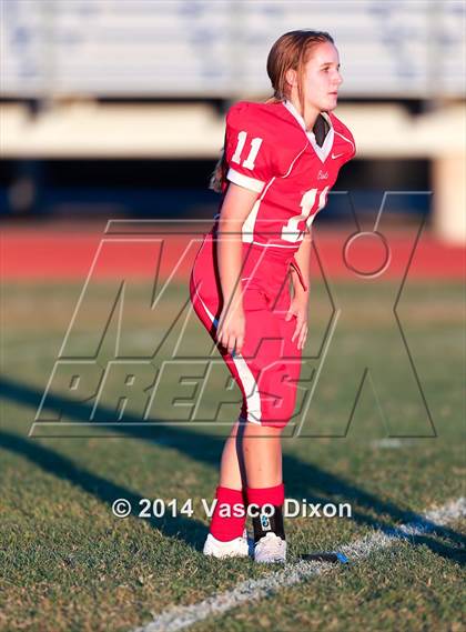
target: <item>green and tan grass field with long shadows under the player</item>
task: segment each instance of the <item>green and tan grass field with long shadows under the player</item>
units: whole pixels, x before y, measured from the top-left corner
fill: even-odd
[[[397,309],[430,420],[413,390],[396,327],[397,289],[396,283],[374,285],[371,292],[348,283],[332,285],[341,314],[310,418],[301,435],[291,432],[283,440],[284,476],[287,498],[348,502],[353,516],[288,519],[291,564],[303,553],[335,550],[464,495],[463,289],[454,282],[408,282]],[[153,314],[141,308],[150,288],[132,287],[123,319],[128,355],[151,349],[154,337],[168,331],[186,292],[173,287]],[[169,373],[149,427],[139,423],[141,402],[130,402],[126,423],[99,427],[89,422],[92,401],[73,401],[64,390],[54,390],[48,414],[61,421],[33,425],[80,293],[77,283],[4,283],[2,289],[0,630],[4,631],[130,631],[172,606],[195,604],[277,570],[250,560],[219,562],[201,552],[209,519],[200,499],[210,501],[217,484],[224,424],[234,420],[239,390],[229,391],[233,403],[220,409],[221,423],[163,424],[173,414],[166,402],[178,388],[178,375]],[[87,294],[67,348],[70,355],[93,354],[95,332],[107,322],[114,297],[112,283]],[[303,368],[310,384],[331,317],[325,288],[316,282],[306,347],[313,358]],[[188,367],[207,355],[210,339],[196,318],[180,319],[156,365],[172,358],[173,340],[179,340],[183,327],[176,350],[180,362]],[[97,357],[102,367],[113,355],[115,332],[115,319],[110,319]],[[356,398],[365,368],[368,377]],[[214,415],[226,378],[226,369],[216,367],[201,407],[205,419]],[[110,381],[101,402],[110,419],[119,397],[116,381]],[[185,411],[186,407],[176,411],[179,421]],[[133,504],[124,520],[111,511],[119,498]],[[138,518],[134,508],[142,498],[175,498],[181,504],[192,498],[194,514]],[[325,566],[322,574],[209,616],[191,629],[459,632],[464,629],[462,530],[464,521],[454,520],[445,529],[374,551],[362,561]]]

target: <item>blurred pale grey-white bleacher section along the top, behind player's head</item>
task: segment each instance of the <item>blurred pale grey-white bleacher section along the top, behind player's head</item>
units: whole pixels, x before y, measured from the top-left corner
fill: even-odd
[[[1,0],[1,92],[200,97],[269,92],[272,42],[328,30],[347,97],[463,97],[462,0]]]

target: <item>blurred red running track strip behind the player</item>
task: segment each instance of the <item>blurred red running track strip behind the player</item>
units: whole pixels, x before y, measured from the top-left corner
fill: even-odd
[[[181,224],[178,224],[181,225]],[[50,225],[18,227],[7,225],[1,231],[1,275],[3,281],[83,281],[89,274],[92,262],[103,238],[103,228],[51,228]],[[172,230],[175,230],[172,227]],[[416,242],[417,228],[391,230],[386,235],[388,250],[383,241],[366,234],[358,237],[347,245],[346,260],[343,257],[345,242],[352,231],[342,228],[314,229],[315,250],[312,257],[312,277],[320,275],[318,260],[326,278],[331,280],[354,279],[354,271],[376,272],[383,279],[404,277]],[[125,240],[121,240],[125,237]],[[120,241],[114,240],[119,238]],[[107,235],[112,248],[100,257],[95,272],[99,279],[131,278],[150,279],[156,273],[156,258],[160,251],[141,241],[144,235]],[[202,235],[181,234],[145,235],[145,239],[163,239],[161,257],[161,278],[166,278],[180,261],[191,239]],[[110,242],[109,242],[110,243]],[[188,282],[193,255],[190,254],[180,264],[175,278]],[[102,251],[103,252],[103,251]],[[318,253],[318,258],[316,257]],[[389,261],[386,253],[389,252]],[[412,257],[408,278],[419,280],[459,280],[465,278],[466,250],[463,247],[447,245],[436,240],[427,230],[421,233]]]

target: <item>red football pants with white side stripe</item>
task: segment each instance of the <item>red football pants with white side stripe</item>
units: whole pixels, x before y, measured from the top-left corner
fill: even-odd
[[[215,342],[223,308],[216,261],[215,237],[211,230],[195,258],[190,294],[197,317]],[[291,301],[290,265],[297,269],[302,281],[293,253],[243,242],[244,344],[242,352],[233,352],[233,355],[217,344],[243,393],[240,419],[275,428],[284,428],[293,415],[301,372],[297,337],[291,341],[296,318],[285,321]]]

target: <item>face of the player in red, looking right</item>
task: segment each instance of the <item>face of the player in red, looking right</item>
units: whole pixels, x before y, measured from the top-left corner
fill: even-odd
[[[316,46],[304,67],[303,89],[307,106],[320,111],[334,110],[342,82],[336,48],[331,42]]]

